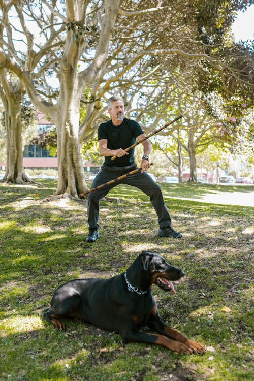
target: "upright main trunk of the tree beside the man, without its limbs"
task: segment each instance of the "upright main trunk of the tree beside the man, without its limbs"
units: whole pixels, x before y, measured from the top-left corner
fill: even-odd
[[[85,184],[79,145],[79,105],[81,89],[77,76],[79,41],[69,43],[62,59],[60,99],[57,105],[57,162],[56,195],[78,198],[88,187]]]

